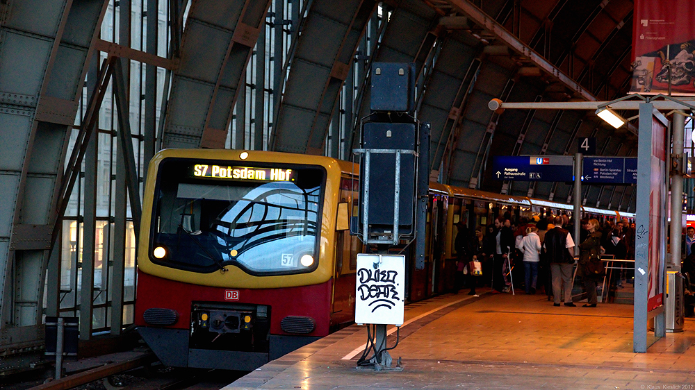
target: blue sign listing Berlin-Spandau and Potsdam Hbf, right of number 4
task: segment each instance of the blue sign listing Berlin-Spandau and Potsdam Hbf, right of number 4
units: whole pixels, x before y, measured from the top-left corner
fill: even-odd
[[[637,158],[585,157],[584,184],[637,184]]]

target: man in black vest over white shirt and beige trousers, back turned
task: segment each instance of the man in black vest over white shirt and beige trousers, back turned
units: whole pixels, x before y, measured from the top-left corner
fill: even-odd
[[[571,253],[574,241],[568,230],[562,228],[562,217],[555,217],[555,228],[546,232],[543,246],[550,262],[550,275],[553,284],[553,306],[559,306],[564,288],[564,305],[576,306],[572,302],[572,271],[574,256]]]

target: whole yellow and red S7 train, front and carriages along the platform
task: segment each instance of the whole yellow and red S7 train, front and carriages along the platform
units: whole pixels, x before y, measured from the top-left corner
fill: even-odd
[[[316,155],[157,153],[143,198],[136,325],[161,362],[248,371],[352,323],[363,251],[349,226],[357,172]],[[569,207],[431,183],[425,268],[409,255],[407,300],[454,287],[458,221],[473,227],[507,211],[545,217]]]

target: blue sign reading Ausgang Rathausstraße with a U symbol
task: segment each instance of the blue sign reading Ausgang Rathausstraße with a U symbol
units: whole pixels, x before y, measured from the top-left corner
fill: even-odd
[[[493,156],[493,178],[519,181],[572,181],[571,155]]]

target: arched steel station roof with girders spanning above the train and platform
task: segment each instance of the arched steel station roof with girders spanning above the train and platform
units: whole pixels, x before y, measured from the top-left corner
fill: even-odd
[[[573,154],[578,137],[596,137],[599,155],[637,154],[635,126],[614,129],[593,111],[500,115],[487,108],[493,98],[554,102],[625,96],[631,79],[631,0],[296,0],[295,15],[281,18],[269,11],[274,2],[283,3],[148,1],[165,3],[170,11],[159,28],[169,34],[171,46],[161,53],[152,40],[139,49],[126,43],[124,31],[138,26],[122,22],[117,31],[112,25],[111,34],[122,37],[118,44],[104,35],[107,8],[127,14],[135,3],[142,7],[138,1],[0,1],[0,317],[17,325],[0,330],[0,339],[38,337],[39,281],[109,80],[117,95],[118,132],[130,132],[124,91],[132,75],[118,58],[147,64],[145,73],[170,72],[159,129],[154,106],[143,108],[153,113],[145,127],[159,135],[158,141],[145,139],[145,160],[159,147],[225,146],[232,117],[243,118],[234,114],[234,105],[248,99],[240,85],[247,83],[250,58],[268,50],[256,45],[265,39],[267,23],[292,24],[292,39],[287,61],[273,69],[281,83],[266,91],[275,97],[267,115],[269,139],[256,132],[251,141],[256,149],[266,142],[273,151],[325,154],[332,120],[341,112],[353,124],[343,129],[341,144],[349,158],[359,119],[369,109],[368,72],[355,71],[355,64],[414,62],[418,118],[432,129],[432,176],[445,184],[570,203],[567,183],[495,180],[491,156]],[[375,17],[383,22],[370,24]],[[368,52],[360,49],[365,35],[371,38]],[[104,62],[95,56],[99,52],[108,53]],[[256,66],[259,74],[264,66]],[[349,94],[354,99],[347,105],[339,102],[346,80],[354,81]],[[150,90],[142,93],[146,102],[157,97]],[[132,153],[128,144],[121,144],[126,159]],[[128,169],[130,179],[123,184],[136,189],[141,178],[134,167]],[[130,193],[131,204],[138,203],[132,193],[139,191]],[[631,186],[591,186],[583,197],[587,206],[634,212]],[[26,299],[15,302],[26,305],[4,304],[22,294]],[[15,332],[23,325],[33,333]]]

